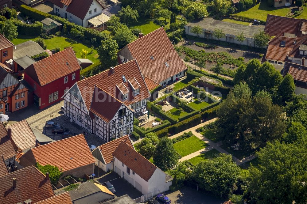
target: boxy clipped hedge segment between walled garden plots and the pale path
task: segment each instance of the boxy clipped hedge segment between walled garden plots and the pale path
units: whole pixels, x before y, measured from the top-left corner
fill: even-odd
[[[201,116],[200,114],[194,115],[188,119],[180,121],[172,126],[168,127],[169,133],[180,133],[186,129],[194,127],[201,123]]]

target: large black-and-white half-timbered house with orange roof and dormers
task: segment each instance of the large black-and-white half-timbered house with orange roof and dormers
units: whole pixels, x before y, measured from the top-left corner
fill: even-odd
[[[76,82],[62,96],[64,114],[106,142],[132,133],[149,97],[136,60]]]

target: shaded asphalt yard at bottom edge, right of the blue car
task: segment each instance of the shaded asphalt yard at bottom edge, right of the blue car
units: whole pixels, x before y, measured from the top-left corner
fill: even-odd
[[[206,195],[192,188],[182,187],[166,195],[174,204],[221,204],[224,201],[210,195]]]

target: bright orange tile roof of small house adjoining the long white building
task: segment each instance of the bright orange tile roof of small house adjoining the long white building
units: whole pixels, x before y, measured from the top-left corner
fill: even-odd
[[[126,142],[131,148],[134,148],[128,135],[123,136],[121,138],[117,138],[115,140],[112,140],[111,142],[107,142],[99,146],[99,149],[101,150],[101,154],[106,164],[109,164],[111,160],[113,160],[112,154],[122,141]]]

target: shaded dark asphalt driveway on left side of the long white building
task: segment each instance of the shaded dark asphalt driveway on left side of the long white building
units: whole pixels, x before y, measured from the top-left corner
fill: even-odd
[[[122,195],[129,195],[132,199],[138,198],[142,196],[142,193],[134,188],[130,183],[128,183],[125,179],[122,179],[117,173],[111,172],[102,178],[99,179],[101,184],[110,181],[114,186],[116,192],[115,195],[117,197]]]

